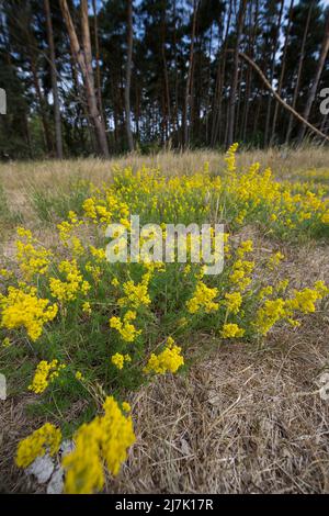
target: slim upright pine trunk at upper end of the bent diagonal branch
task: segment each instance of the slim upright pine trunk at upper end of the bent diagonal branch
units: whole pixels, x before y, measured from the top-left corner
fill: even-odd
[[[234,143],[234,131],[235,131],[235,119],[236,119],[236,96],[238,88],[238,72],[239,72],[239,47],[243,29],[245,12],[246,12],[247,0],[240,0],[238,23],[237,23],[237,43],[234,55],[234,72],[229,99],[228,110],[228,132],[227,132],[227,147],[230,147]]]

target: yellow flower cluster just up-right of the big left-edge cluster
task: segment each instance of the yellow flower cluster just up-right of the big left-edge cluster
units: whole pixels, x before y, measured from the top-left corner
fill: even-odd
[[[61,261],[58,270],[65,274],[66,281],[61,281],[58,278],[49,278],[50,292],[54,298],[61,302],[72,301],[77,299],[79,293],[84,295],[90,290],[90,284],[83,280],[76,259]]]

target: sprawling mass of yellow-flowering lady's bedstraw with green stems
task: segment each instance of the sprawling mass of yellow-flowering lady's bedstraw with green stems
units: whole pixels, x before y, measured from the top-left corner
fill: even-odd
[[[100,491],[105,470],[117,474],[135,440],[122,400],[157,374],[186,368],[192,335],[207,333],[230,346],[237,339],[261,343],[277,325],[299,325],[329,293],[320,280],[302,290],[286,278],[279,281],[281,249],[260,257],[252,240],[239,236],[246,223],[276,242],[326,236],[328,200],[309,183],[276,182],[259,164],[239,171],[236,150],[229,149],[222,176],[208,167],[169,178],[145,167],[116,170],[111,184],[90,186],[82,216],[70,212],[60,222],[54,248],[19,229],[16,266],[0,271],[1,349],[8,364],[22,358],[19,372],[38,414],[45,407],[49,419],[58,415],[65,438],[73,437],[76,448],[63,460],[68,493]],[[109,224],[129,236],[136,214],[140,227],[160,226],[162,243],[167,224],[224,223],[223,272],[207,274],[204,257],[191,259],[196,237],[185,262],[174,259],[174,246],[168,261],[141,256],[109,262]],[[141,233],[138,245],[152,237]],[[80,407],[77,420],[72,404]],[[46,423],[20,442],[16,464],[55,456],[61,439],[61,430]]]

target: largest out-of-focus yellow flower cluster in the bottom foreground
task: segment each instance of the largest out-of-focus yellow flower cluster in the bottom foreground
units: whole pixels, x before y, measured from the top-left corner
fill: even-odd
[[[103,408],[104,415],[78,429],[75,450],[63,459],[65,492],[68,494],[101,491],[104,485],[103,460],[109,471],[116,475],[127,458],[127,449],[135,442],[132,418],[123,415],[112,396],[105,400]]]

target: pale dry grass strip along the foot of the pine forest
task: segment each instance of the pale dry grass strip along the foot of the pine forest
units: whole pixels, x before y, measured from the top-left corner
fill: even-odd
[[[111,177],[112,167],[132,166],[137,169],[143,165],[160,167],[163,172],[191,173],[202,169],[205,161],[209,162],[209,170],[220,171],[224,167],[224,154],[214,150],[195,150],[189,153],[162,152],[150,156],[138,154],[126,155],[104,161],[98,158],[76,159],[64,161],[23,161],[0,164],[0,181],[7,191],[25,192],[31,186],[38,188],[56,188],[65,186],[71,179],[83,178],[100,184]],[[292,149],[248,150],[238,154],[238,166],[259,161],[262,167],[271,167],[277,175],[290,175],[296,171],[327,169],[329,167],[329,148],[306,147],[297,152]],[[72,173],[73,170],[73,173]]]

